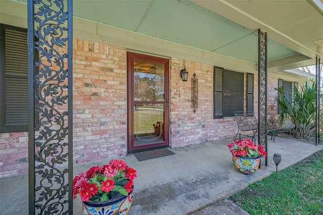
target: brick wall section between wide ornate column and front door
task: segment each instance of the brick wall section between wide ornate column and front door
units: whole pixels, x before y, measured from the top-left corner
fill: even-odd
[[[74,163],[127,153],[126,49],[73,39]]]

